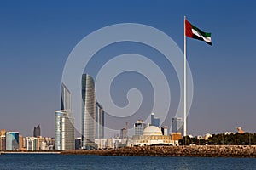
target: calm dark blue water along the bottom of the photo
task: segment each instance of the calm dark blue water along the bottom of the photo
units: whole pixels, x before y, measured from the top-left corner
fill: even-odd
[[[256,159],[1,155],[0,169],[256,169]]]

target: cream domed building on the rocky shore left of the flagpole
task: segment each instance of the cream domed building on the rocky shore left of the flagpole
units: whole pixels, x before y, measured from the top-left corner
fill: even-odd
[[[143,130],[143,135],[134,135],[131,145],[147,146],[154,144],[169,144],[173,145],[170,135],[163,135],[161,129],[155,126],[146,127]]]

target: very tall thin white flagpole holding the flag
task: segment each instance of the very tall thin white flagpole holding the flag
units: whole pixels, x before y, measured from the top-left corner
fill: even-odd
[[[184,16],[184,125],[183,136],[187,136],[187,47],[186,47],[186,16]]]

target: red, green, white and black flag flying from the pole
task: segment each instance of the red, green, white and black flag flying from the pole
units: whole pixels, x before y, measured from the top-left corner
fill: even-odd
[[[186,25],[186,36],[195,38],[204,42],[207,42],[207,44],[212,45],[212,38],[211,33],[207,33],[204,31],[201,31],[199,28],[193,26],[189,23],[188,20],[185,20]]]

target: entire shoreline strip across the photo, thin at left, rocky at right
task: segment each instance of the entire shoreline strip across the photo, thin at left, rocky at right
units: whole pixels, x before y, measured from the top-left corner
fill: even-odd
[[[256,158],[256,145],[143,146],[116,150],[2,151],[2,154]]]

